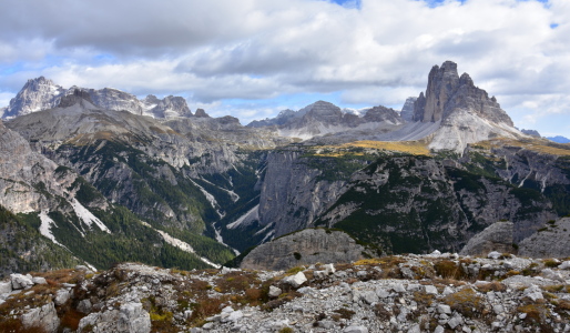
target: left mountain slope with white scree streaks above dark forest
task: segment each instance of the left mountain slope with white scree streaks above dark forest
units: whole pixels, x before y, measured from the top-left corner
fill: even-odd
[[[79,104],[67,108],[90,105],[81,95],[67,97],[61,104],[69,105],[73,100],[79,100]],[[8,262],[2,266],[6,272],[24,264],[17,258],[22,255],[18,254],[22,249],[31,251],[29,264],[38,269],[70,266],[82,261],[108,268],[125,260],[191,269],[212,266],[212,261],[222,263],[232,258],[226,246],[200,233],[169,232],[165,228],[156,230],[162,225],[144,223],[125,208],[109,202],[70,168],[34,152],[21,135],[2,123],[0,162],[0,190],[4,194],[0,205],[22,214],[20,220],[8,212],[2,215],[3,239],[23,244],[2,244],[2,251],[8,251]],[[61,254],[60,261],[48,261],[38,254],[40,249],[50,258],[61,251],[69,254]]]

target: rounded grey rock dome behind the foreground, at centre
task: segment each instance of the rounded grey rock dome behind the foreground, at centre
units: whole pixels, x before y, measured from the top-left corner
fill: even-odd
[[[352,262],[363,256],[364,246],[344,232],[306,229],[252,250],[242,269],[285,270],[317,262]]]

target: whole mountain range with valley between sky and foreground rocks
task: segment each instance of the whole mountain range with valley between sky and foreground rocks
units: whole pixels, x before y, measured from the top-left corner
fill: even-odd
[[[499,220],[519,243],[570,213],[570,147],[517,130],[451,61],[401,111],[317,101],[242,125],[180,97],[38,78],[2,114],[3,274],[217,266],[314,226],[378,253],[459,251]]]

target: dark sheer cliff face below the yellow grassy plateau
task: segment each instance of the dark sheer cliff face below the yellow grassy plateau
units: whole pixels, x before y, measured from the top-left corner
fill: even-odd
[[[259,228],[269,225],[276,236],[326,225],[388,252],[459,251],[499,220],[515,223],[519,242],[556,216],[547,194],[487,174],[488,165],[474,162],[492,163],[493,157],[471,153],[465,164],[421,155],[368,157],[370,165],[357,171],[367,162],[355,162],[343,178],[334,170],[352,158],[332,164],[307,152],[282,151],[267,159]]]

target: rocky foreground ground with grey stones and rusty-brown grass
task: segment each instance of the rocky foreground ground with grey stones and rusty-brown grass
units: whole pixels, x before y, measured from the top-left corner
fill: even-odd
[[[570,261],[435,252],[284,271],[12,274],[0,332],[570,332]]]

